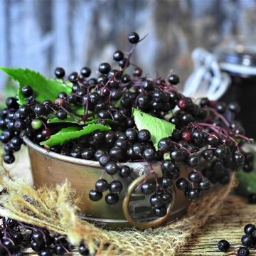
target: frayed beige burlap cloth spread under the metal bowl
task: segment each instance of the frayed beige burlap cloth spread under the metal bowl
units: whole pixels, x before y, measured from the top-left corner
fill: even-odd
[[[75,191],[70,183],[54,190],[35,190],[26,181],[14,181],[1,169],[0,184],[8,193],[1,193],[0,215],[30,225],[67,235],[77,245],[85,240],[93,255],[175,255],[208,218],[223,206],[235,186],[235,175],[227,186],[208,193],[201,201],[191,203],[188,214],[164,227],[147,230],[103,230],[78,218]]]

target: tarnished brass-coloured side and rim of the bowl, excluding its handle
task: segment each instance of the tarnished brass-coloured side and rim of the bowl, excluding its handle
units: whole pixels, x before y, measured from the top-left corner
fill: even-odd
[[[124,217],[122,203],[132,179],[120,178],[118,174],[114,175],[114,180],[121,181],[124,187],[122,193],[119,194],[119,203],[116,205],[107,205],[104,196],[101,201],[90,201],[88,193],[95,187],[95,182],[104,173],[104,169],[102,169],[97,161],[87,161],[63,156],[33,144],[26,137],[23,140],[28,146],[33,181],[36,187],[43,185],[54,187],[56,183],[63,183],[65,180],[68,180],[76,190],[75,196],[81,198],[81,203],[78,206],[81,210],[82,218],[100,225],[114,226],[115,228],[129,226],[129,222]],[[147,168],[147,164],[144,162],[126,164],[136,169],[137,173],[141,173],[142,169]],[[153,164],[153,168],[156,174],[161,176],[159,164]],[[189,169],[182,168],[182,166],[180,169],[181,176],[187,176]],[[137,175],[134,178],[137,177],[139,176]],[[104,178],[109,182],[112,181],[109,175],[105,175]],[[176,199],[174,200],[173,206],[171,206],[172,210],[169,207],[168,219],[164,218],[164,221],[166,222],[167,220],[180,217],[186,211],[187,206],[188,200],[185,198],[183,191],[176,191]],[[159,224],[161,224],[161,221],[154,222],[154,225]]]

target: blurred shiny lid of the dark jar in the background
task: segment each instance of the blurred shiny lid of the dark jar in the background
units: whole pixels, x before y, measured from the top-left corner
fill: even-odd
[[[256,75],[256,38],[225,39],[215,49],[220,68],[243,77]]]

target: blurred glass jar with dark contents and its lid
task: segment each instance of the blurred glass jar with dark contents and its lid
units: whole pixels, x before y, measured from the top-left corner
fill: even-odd
[[[221,70],[231,77],[220,100],[239,103],[236,119],[242,122],[246,136],[256,139],[256,38],[230,38],[220,43],[215,53]]]

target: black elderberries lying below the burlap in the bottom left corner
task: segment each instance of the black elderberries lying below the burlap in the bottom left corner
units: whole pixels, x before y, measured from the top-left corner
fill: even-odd
[[[63,235],[6,218],[2,218],[0,240],[2,256],[22,255],[25,247],[31,247],[40,256],[65,255],[74,249]],[[90,255],[85,242],[81,242],[77,249],[80,255]]]

